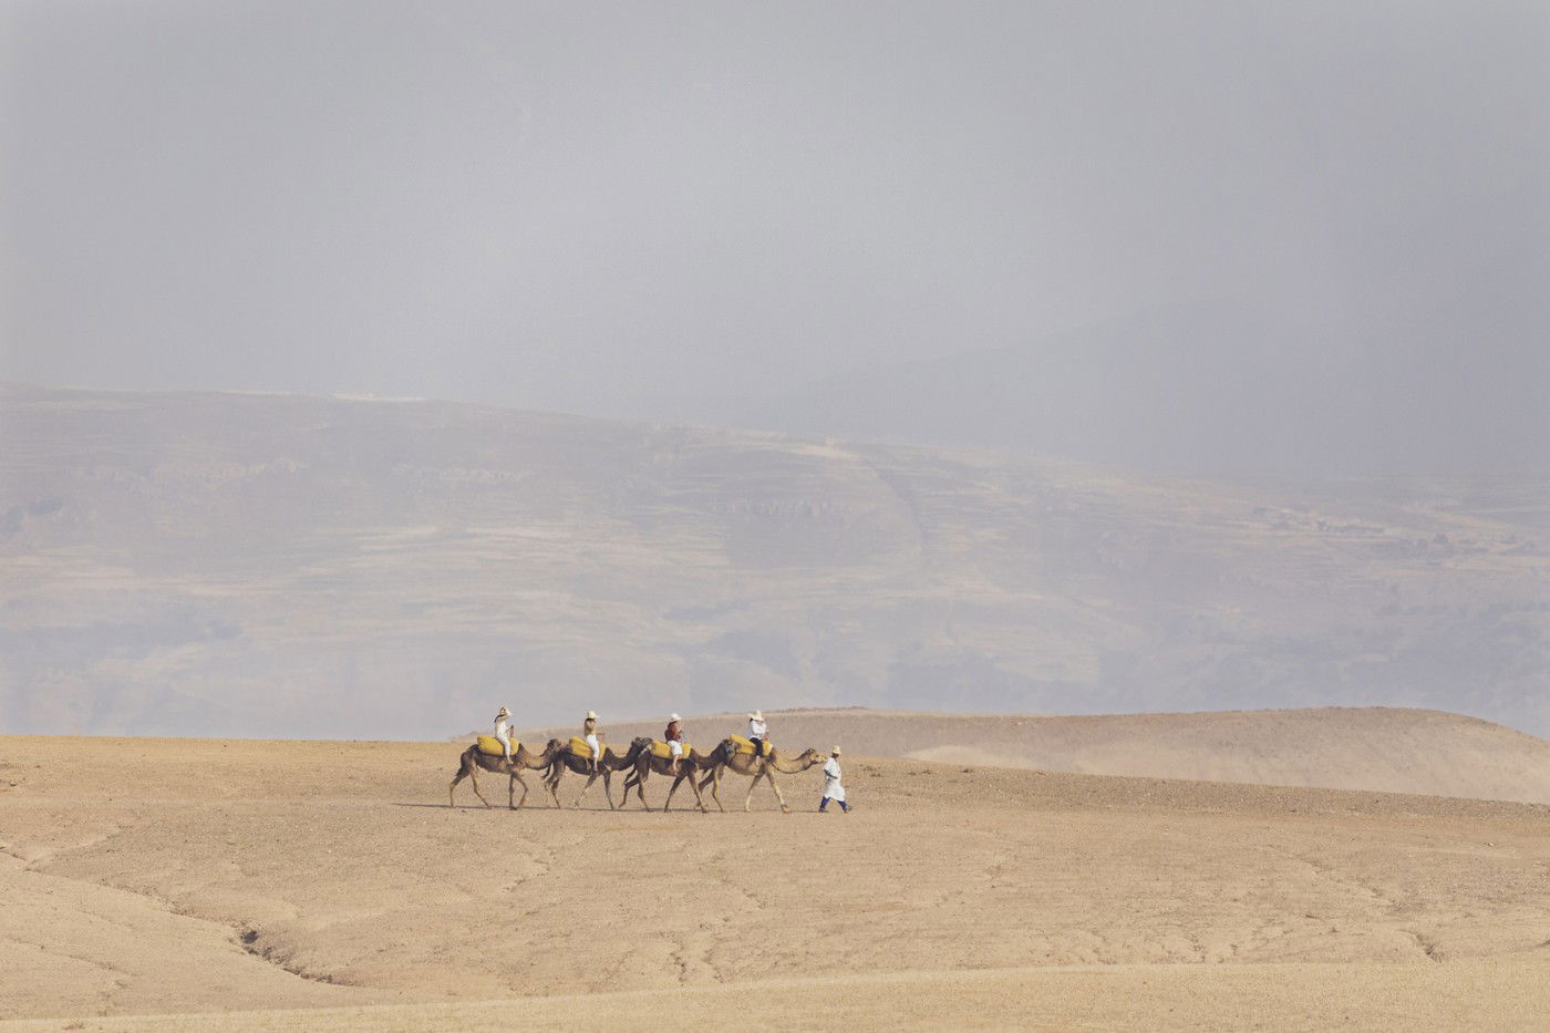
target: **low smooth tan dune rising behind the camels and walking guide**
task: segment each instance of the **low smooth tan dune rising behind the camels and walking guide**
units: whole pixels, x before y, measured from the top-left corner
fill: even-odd
[[[784,710],[770,721],[778,743],[823,751],[839,743],[873,757],[1550,803],[1550,743],[1438,710],[990,717],[846,709]],[[660,735],[663,723],[625,721],[609,732],[623,743]],[[742,723],[735,713],[693,718],[688,741],[710,746]]]

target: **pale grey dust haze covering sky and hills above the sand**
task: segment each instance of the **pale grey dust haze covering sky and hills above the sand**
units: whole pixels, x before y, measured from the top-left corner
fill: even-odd
[[[1550,731],[1542,5],[0,19],[8,731]]]

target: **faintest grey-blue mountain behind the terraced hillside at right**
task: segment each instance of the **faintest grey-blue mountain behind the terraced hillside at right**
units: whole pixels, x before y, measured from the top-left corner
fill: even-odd
[[[1336,349],[1330,333],[1242,306],[1172,306],[828,377],[719,416],[1195,476],[1550,470],[1550,361],[1534,377],[1469,349]]]

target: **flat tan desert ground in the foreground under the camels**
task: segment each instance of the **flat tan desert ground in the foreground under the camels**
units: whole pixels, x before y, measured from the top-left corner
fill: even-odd
[[[817,771],[792,814],[513,813],[446,807],[457,752],[0,738],[0,1025],[1550,1014],[1544,805],[851,757],[851,814]]]

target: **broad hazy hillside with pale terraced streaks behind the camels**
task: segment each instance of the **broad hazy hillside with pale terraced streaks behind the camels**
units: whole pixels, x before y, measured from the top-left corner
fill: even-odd
[[[749,706],[1550,732],[1550,485],[1325,487],[439,402],[0,391],[0,729]]]

